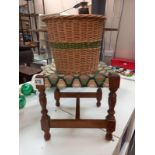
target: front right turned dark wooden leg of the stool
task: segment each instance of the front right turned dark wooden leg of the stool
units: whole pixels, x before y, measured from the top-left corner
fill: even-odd
[[[115,121],[115,104],[116,104],[116,91],[119,88],[120,84],[120,76],[114,73],[109,74],[109,109],[108,109],[108,115],[106,116],[106,120],[108,121],[107,125],[107,133],[106,133],[106,139],[112,140],[112,132],[115,131],[116,121]]]

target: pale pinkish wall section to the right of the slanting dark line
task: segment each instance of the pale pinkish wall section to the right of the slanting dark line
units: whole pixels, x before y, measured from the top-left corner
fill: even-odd
[[[125,0],[116,57],[135,58],[135,0]]]

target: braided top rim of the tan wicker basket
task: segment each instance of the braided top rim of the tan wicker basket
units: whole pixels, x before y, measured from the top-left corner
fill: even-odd
[[[106,20],[106,16],[103,15],[95,15],[95,14],[80,14],[80,15],[53,15],[47,14],[42,16],[42,21],[48,21],[51,19],[100,19]]]

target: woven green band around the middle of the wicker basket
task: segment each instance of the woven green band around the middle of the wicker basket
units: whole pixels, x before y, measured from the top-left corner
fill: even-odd
[[[82,42],[82,43],[50,43],[50,47],[56,49],[84,49],[84,48],[98,48],[101,46],[100,41],[96,42]]]

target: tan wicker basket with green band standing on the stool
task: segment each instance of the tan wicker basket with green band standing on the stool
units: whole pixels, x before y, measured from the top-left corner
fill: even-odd
[[[61,74],[92,74],[97,70],[104,16],[43,17],[56,69]]]

